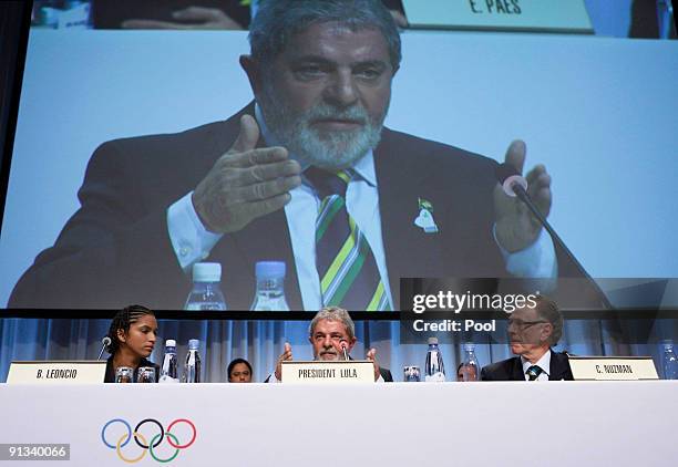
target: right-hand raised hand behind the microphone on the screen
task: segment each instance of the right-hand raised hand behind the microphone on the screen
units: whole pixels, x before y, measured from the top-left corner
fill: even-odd
[[[525,143],[516,139],[506,151],[505,163],[523,173],[525,164]],[[551,175],[546,167],[537,165],[527,176],[527,194],[544,217],[551,211]],[[508,252],[515,252],[534,243],[542,226],[517,197],[510,197],[497,184],[494,188],[494,211],[496,220],[496,239]]]

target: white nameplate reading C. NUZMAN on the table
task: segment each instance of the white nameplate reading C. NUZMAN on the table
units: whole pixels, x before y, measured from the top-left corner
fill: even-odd
[[[569,356],[576,381],[659,380],[651,356]]]

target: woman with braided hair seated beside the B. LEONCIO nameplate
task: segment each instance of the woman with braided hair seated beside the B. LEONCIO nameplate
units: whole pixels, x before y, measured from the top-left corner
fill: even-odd
[[[151,366],[155,369],[157,381],[158,366],[146,360],[157,338],[157,321],[153,311],[140,304],[124,308],[111,321],[107,335],[111,338],[107,347],[111,356],[106,363],[105,383],[115,382],[115,371],[121,366],[133,369],[135,383],[137,369]]]

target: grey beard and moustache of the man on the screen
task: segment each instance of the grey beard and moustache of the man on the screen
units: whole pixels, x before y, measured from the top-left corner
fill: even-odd
[[[294,113],[269,85],[264,86],[259,104],[266,125],[278,144],[294,154],[299,163],[328,170],[348,168],[377,147],[388,112],[387,105],[383,115],[373,120],[360,105],[337,107],[322,103]],[[335,132],[320,132],[314,127],[314,123],[328,118],[355,121],[360,126]]]

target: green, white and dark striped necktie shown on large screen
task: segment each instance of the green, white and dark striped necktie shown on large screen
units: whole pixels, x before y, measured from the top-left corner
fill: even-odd
[[[306,170],[321,200],[316,219],[316,267],[323,307],[390,311],[388,295],[367,238],[346,209],[350,170]]]

